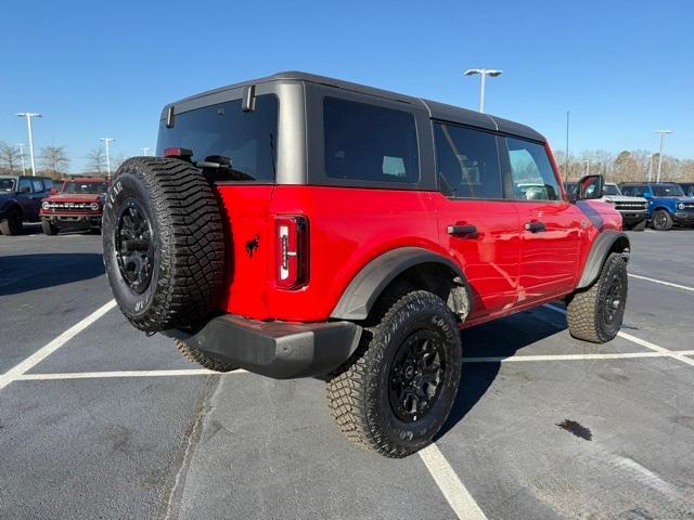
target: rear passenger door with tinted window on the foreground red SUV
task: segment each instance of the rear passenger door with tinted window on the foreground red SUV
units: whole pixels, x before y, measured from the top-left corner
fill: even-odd
[[[494,133],[434,122],[439,194],[433,198],[441,245],[463,266],[473,295],[470,317],[515,303],[518,214],[504,197]]]

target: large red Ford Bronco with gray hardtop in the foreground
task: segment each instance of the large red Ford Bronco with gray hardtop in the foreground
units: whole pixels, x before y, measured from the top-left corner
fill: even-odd
[[[339,429],[403,457],[453,405],[460,328],[564,299],[574,337],[615,337],[629,239],[602,186],[569,199],[526,126],[284,73],[164,108],[104,260],[139,329],[213,370],[326,376]]]

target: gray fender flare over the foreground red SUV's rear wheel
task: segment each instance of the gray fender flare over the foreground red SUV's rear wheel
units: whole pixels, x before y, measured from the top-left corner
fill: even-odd
[[[331,317],[365,320],[388,284],[399,274],[421,263],[439,263],[450,268],[463,282],[470,298],[465,275],[453,260],[421,247],[400,247],[376,257],[359,271],[343,292]]]

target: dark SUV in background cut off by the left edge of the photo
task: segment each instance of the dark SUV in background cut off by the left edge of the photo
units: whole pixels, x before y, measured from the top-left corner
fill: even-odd
[[[0,176],[0,233],[18,235],[24,222],[38,222],[52,188],[48,177]]]

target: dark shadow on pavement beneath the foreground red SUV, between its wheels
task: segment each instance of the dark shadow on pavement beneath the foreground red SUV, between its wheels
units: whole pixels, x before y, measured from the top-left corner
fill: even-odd
[[[463,356],[468,358],[509,358],[518,350],[553,336],[564,329],[563,321],[548,322],[532,320],[532,312],[497,320],[463,330]],[[528,327],[529,320],[534,326]],[[437,441],[461,421],[475,404],[485,395],[501,369],[501,362],[463,363],[462,377],[455,402],[448,419],[434,438]]]

